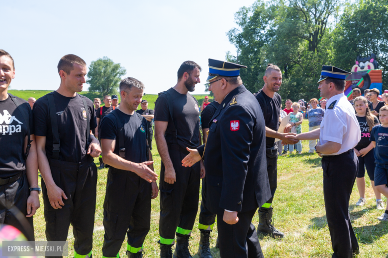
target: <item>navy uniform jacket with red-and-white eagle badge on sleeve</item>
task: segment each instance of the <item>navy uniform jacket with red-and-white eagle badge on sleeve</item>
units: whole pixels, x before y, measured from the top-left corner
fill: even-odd
[[[271,198],[265,136],[259,102],[238,86],[210,121],[206,147],[198,147],[206,169],[207,209],[246,212]]]

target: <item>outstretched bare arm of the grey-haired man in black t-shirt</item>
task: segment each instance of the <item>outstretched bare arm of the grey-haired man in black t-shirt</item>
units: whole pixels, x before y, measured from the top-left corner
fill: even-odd
[[[153,161],[135,163],[121,158],[113,153],[114,147],[116,146],[116,140],[101,139],[101,145],[103,163],[117,169],[131,171],[150,183],[155,182],[158,179],[158,175],[148,167]]]

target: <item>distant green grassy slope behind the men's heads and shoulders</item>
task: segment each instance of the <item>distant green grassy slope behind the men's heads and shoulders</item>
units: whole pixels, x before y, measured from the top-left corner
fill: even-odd
[[[50,93],[51,90],[8,90],[8,92],[11,93],[12,95],[19,97],[19,98],[28,100],[28,98],[30,98],[30,97],[38,99],[38,98],[46,95],[47,93]],[[100,98],[101,100],[103,98],[103,96],[100,92],[82,91],[82,92],[80,92],[80,94],[88,97],[92,101],[95,98]],[[193,96],[198,100],[198,104],[201,105],[202,101],[205,99],[205,96],[208,96],[208,95],[201,94],[201,95],[193,95]],[[118,98],[119,98],[118,101],[120,103],[120,96],[118,96]],[[149,109],[155,108],[155,101],[157,98],[158,98],[157,94],[146,94],[145,96],[143,96],[143,99],[148,101],[148,108]],[[140,105],[139,105],[138,109],[140,109]]]

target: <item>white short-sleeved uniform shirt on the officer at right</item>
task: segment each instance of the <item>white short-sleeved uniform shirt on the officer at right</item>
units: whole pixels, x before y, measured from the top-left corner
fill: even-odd
[[[331,109],[330,105],[334,101],[336,101],[334,108]],[[361,129],[354,114],[354,108],[344,93],[337,94],[327,100],[325,116],[321,122],[319,140],[320,144],[328,141],[341,144],[338,152],[329,155],[344,153],[356,147],[361,140]]]

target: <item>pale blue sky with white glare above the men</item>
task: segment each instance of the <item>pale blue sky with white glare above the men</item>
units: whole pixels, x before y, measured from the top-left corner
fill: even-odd
[[[179,66],[202,66],[196,94],[204,94],[208,58],[235,53],[226,32],[234,13],[254,0],[37,0],[1,3],[0,48],[15,60],[12,89],[55,90],[59,59],[83,58],[88,66],[104,56],[120,63],[126,76],[156,94],[175,85]],[[86,85],[88,87],[88,85]],[[84,88],[85,90],[85,88]]]

